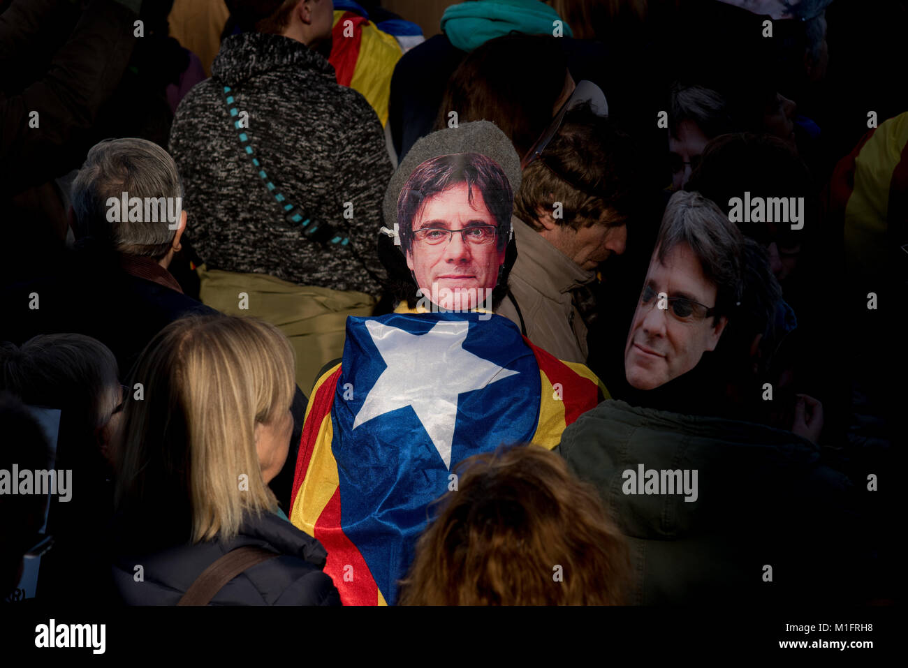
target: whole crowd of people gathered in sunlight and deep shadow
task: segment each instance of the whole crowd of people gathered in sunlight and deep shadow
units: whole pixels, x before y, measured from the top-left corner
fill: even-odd
[[[893,599],[905,5],[189,5],[0,0],[7,600]]]

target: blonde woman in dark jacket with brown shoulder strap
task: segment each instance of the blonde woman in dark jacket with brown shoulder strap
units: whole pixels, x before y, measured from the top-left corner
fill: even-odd
[[[116,487],[124,603],[340,604],[324,548],[268,487],[287,458],[293,356],[271,325],[222,315],[176,320],[143,351]]]

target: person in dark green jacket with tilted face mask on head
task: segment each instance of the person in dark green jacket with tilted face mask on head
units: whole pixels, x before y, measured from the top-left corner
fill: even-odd
[[[672,197],[627,334],[635,391],[581,416],[557,448],[627,536],[637,604],[867,591],[855,487],[817,445],[822,407],[801,396],[790,430],[760,423],[772,395],[756,369],[780,295],[765,251],[713,202]]]

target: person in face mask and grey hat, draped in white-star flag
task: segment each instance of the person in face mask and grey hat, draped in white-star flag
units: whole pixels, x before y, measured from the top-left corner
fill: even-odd
[[[341,363],[312,391],[291,521],[328,551],[344,604],[393,604],[432,500],[463,459],[555,447],[603,396],[492,310],[514,261],[520,162],[487,121],[423,137],[391,177],[380,255],[400,301],[347,319]],[[504,288],[504,290],[503,290]]]

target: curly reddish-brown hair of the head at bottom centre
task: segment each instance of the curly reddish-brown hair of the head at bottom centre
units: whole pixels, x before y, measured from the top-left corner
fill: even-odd
[[[596,490],[538,446],[469,457],[420,537],[405,605],[620,604],[627,544]]]

